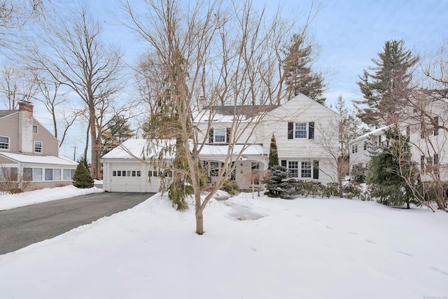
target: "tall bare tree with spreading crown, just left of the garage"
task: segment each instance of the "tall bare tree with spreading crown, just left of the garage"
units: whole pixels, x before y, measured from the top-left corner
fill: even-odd
[[[59,13],[56,20],[45,24],[38,43],[29,49],[27,60],[38,71],[45,71],[55,82],[73,90],[85,104],[92,151],[90,171],[94,179],[99,179],[99,111],[104,113],[104,106],[109,106],[123,88],[120,50],[102,41],[101,27],[86,8],[73,11],[70,17]]]

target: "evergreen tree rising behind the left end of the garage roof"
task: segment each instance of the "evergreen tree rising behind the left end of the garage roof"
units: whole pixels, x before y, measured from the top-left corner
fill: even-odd
[[[127,119],[124,116],[113,116],[109,124],[106,126],[106,130],[102,132],[103,149],[102,155],[106,155],[122,144],[123,141],[130,139],[134,136],[134,130],[131,129],[130,124],[127,123]]]

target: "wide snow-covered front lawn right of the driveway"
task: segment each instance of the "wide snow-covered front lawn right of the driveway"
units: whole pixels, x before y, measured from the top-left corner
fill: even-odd
[[[0,256],[1,298],[447,298],[448,214],[375,202],[155,195]]]

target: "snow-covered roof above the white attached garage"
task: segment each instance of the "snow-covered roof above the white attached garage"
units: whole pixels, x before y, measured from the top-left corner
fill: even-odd
[[[174,139],[164,139],[158,142],[151,142],[146,139],[128,139],[112,151],[106,153],[103,159],[147,159],[158,155],[164,148],[176,144]],[[174,156],[174,153],[172,154]],[[165,153],[165,158],[172,158],[169,153]]]

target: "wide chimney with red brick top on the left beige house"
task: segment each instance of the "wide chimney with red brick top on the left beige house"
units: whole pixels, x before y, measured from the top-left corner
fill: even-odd
[[[19,102],[19,151],[33,153],[33,104]]]

